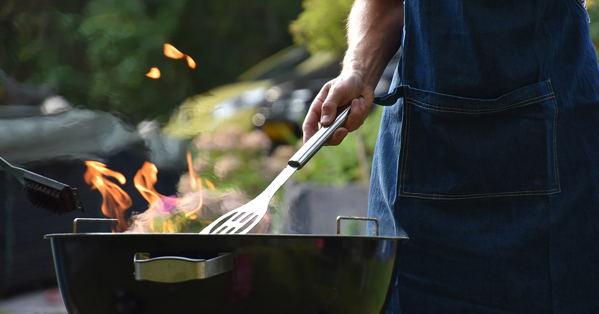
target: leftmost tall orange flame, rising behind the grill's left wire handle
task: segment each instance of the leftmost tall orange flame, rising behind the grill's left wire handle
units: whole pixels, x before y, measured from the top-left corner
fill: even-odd
[[[97,189],[102,194],[102,213],[106,217],[117,218],[120,230],[126,230],[128,225],[124,214],[132,205],[131,197],[116,183],[107,179],[107,177],[114,178],[123,185],[126,182],[125,176],[107,169],[105,164],[98,161],[86,161],[85,164],[87,165],[87,171],[84,173],[83,178],[92,187],[92,190]]]

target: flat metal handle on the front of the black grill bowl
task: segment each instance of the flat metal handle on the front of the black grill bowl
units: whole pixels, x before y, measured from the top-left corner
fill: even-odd
[[[148,253],[135,253],[135,280],[183,282],[204,279],[233,270],[233,254],[220,253],[210,260],[165,256],[150,258]]]

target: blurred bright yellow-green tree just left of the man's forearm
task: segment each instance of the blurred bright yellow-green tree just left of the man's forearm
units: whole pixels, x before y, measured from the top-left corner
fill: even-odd
[[[329,51],[342,56],[347,48],[345,26],[353,0],[304,0],[304,11],[289,25],[294,42],[311,54]]]

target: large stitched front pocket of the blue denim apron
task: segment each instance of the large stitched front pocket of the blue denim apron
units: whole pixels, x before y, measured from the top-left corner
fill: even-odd
[[[492,100],[404,87],[400,196],[559,193],[558,112],[549,80]]]

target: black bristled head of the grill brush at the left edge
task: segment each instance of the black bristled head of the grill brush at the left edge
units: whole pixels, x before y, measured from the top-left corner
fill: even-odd
[[[25,178],[23,187],[29,202],[39,208],[56,214],[66,214],[75,209],[83,211],[77,190],[68,185],[63,185],[62,190],[58,190],[59,185],[48,186]]]

